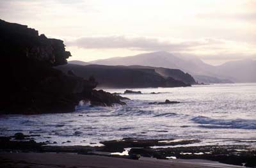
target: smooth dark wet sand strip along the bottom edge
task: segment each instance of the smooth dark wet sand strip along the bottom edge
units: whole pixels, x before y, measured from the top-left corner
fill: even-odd
[[[213,168],[213,167],[241,167],[236,165],[220,164],[208,160],[157,160],[154,158],[140,158],[140,160],[131,160],[125,158],[102,157],[96,155],[77,155],[70,153],[0,153],[0,167],[90,167],[90,168]]]

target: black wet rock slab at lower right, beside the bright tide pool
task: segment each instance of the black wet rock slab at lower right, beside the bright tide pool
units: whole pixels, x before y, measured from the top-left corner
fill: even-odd
[[[239,150],[240,149],[240,150]],[[256,166],[256,149],[250,146],[190,146],[177,148],[132,148],[129,155],[142,157],[205,159],[224,164]]]

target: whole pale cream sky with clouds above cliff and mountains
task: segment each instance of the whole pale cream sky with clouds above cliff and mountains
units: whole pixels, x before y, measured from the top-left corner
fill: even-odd
[[[61,38],[70,60],[165,50],[256,59],[256,0],[0,0],[1,19]]]

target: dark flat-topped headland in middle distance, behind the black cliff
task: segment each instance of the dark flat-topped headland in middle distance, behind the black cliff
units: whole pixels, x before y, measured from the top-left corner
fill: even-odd
[[[154,68],[73,64],[57,66],[56,68],[69,75],[77,75],[85,79],[93,76],[99,82],[99,88],[172,88],[191,86],[172,77],[163,77]]]

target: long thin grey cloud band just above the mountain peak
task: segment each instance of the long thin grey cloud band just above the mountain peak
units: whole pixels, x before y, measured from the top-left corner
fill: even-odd
[[[84,49],[136,49],[136,50],[192,50],[195,47],[221,44],[220,40],[205,38],[204,40],[164,40],[148,37],[129,36],[84,36],[67,41],[69,46]]]

